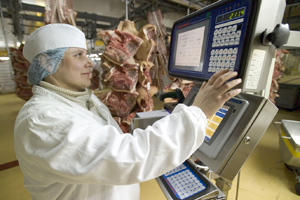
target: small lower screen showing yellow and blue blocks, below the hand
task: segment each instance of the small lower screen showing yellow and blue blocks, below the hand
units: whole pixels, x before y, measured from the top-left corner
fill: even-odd
[[[209,142],[216,132],[217,128],[224,119],[226,113],[229,111],[230,107],[223,105],[218,112],[216,112],[212,117],[207,120],[207,127],[205,129],[205,141]]]

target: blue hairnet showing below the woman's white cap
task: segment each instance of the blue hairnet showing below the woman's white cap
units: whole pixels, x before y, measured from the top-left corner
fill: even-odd
[[[68,47],[51,49],[36,55],[29,66],[27,82],[38,85],[46,76],[54,74],[67,49]]]

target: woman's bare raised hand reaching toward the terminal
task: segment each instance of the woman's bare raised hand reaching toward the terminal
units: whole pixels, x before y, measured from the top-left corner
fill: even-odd
[[[193,106],[199,107],[207,118],[215,114],[222,105],[241,92],[241,89],[231,88],[242,82],[241,79],[229,79],[237,76],[237,72],[229,72],[228,69],[220,70],[204,82],[194,99]]]

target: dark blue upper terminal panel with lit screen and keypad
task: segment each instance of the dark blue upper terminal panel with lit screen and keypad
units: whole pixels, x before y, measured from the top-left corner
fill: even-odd
[[[243,76],[247,29],[255,20],[253,1],[221,1],[176,21],[172,28],[168,72],[170,76],[208,80],[228,68]],[[243,50],[244,49],[244,50]]]

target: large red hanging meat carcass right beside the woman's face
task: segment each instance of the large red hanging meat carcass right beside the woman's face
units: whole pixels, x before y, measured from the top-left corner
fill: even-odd
[[[139,31],[132,21],[121,21],[115,30],[103,30],[99,38],[106,45],[102,54],[102,84],[109,92],[101,94],[124,133],[136,112],[154,109],[150,71],[154,66],[156,27],[147,24]]]

